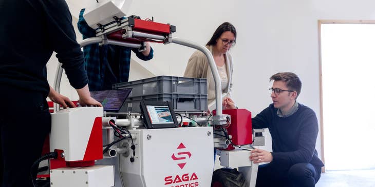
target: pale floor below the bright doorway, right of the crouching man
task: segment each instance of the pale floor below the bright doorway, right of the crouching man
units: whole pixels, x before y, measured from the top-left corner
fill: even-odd
[[[375,187],[375,170],[326,171],[316,187]]]

